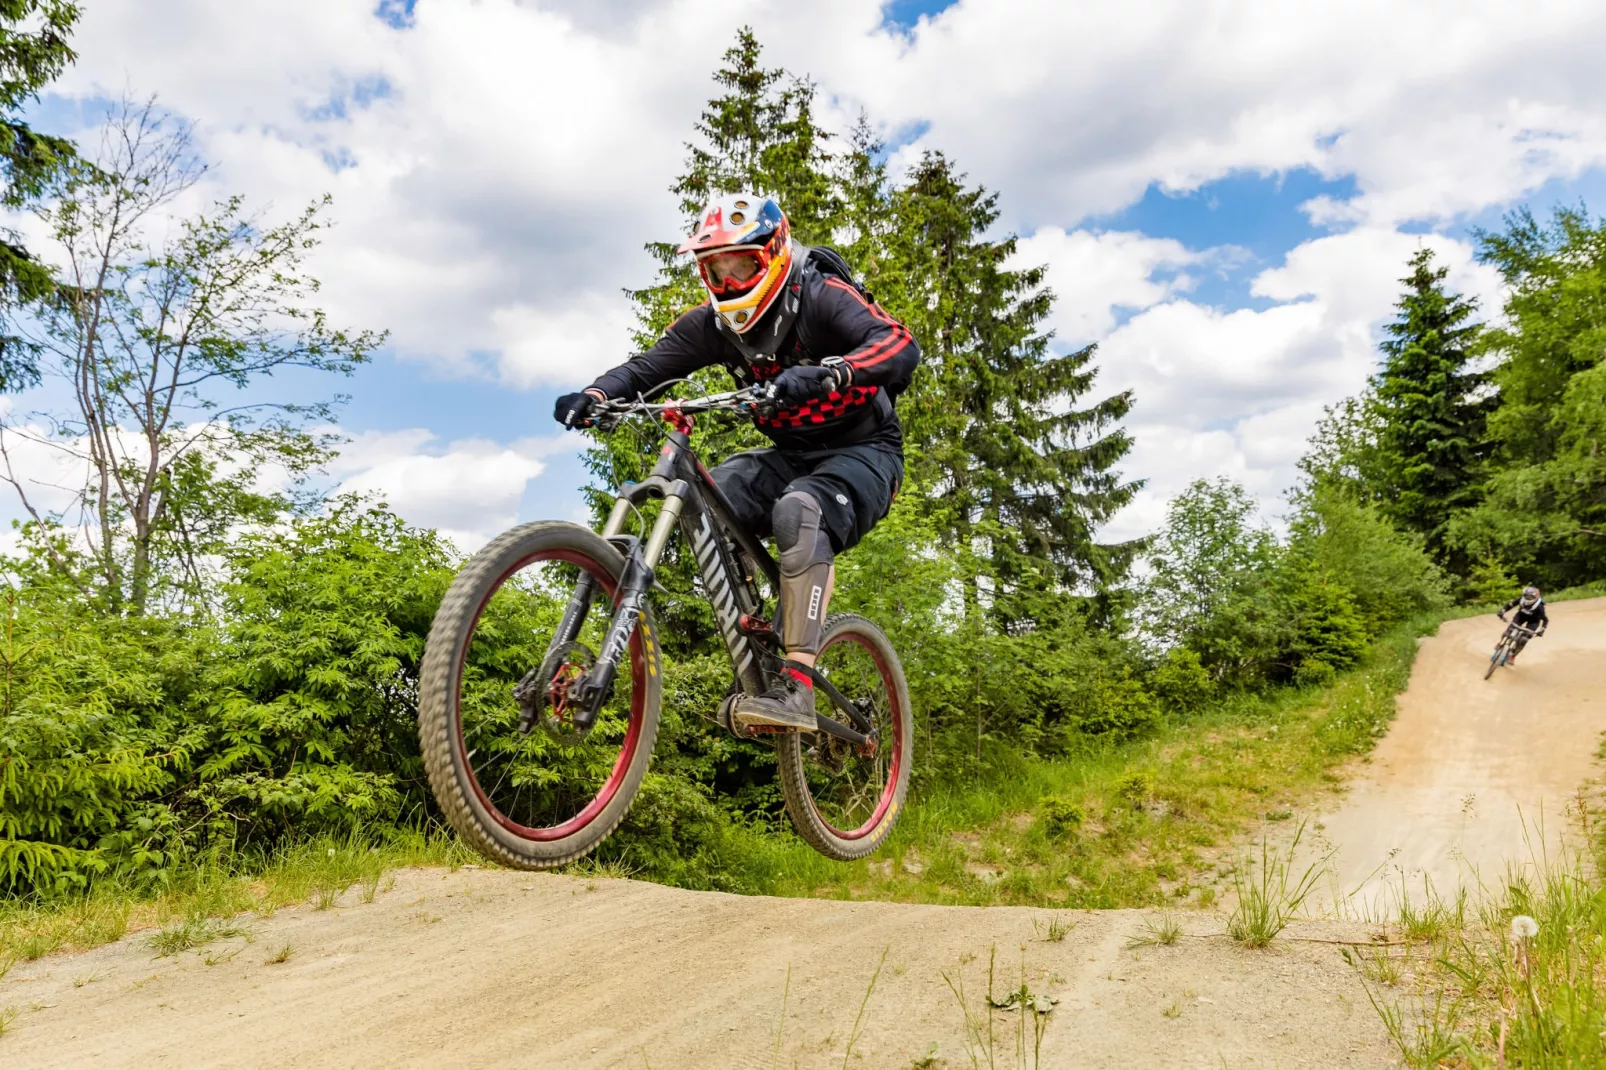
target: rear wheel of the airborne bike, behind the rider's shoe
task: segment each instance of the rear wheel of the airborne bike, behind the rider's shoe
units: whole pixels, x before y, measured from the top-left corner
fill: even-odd
[[[781,794],[798,835],[827,858],[851,861],[887,840],[909,790],[909,683],[887,633],[854,614],[825,620],[816,668],[869,715],[877,741],[854,747],[825,733],[777,736]],[[848,720],[822,689],[814,704],[832,720]]]

